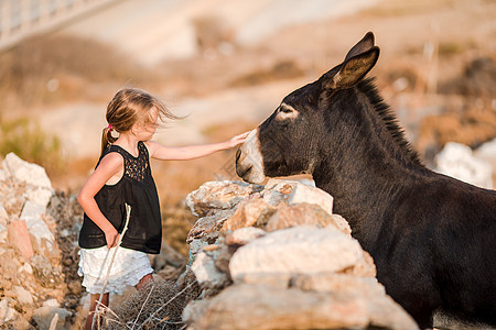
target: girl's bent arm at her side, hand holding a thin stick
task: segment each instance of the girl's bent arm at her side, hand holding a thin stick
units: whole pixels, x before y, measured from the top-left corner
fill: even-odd
[[[95,172],[89,176],[77,196],[77,201],[83,207],[85,213],[95,222],[104,232],[108,248],[114,248],[119,241],[119,233],[116,228],[105,218],[95,200],[95,195],[101,187],[114,176],[123,170],[123,160],[117,153],[106,155]]]

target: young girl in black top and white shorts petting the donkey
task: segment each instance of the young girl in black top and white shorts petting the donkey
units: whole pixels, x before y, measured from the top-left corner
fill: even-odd
[[[107,107],[108,127],[104,129],[101,155],[95,172],[83,186],[77,200],[84,215],[79,233],[79,275],[90,294],[86,328],[107,276],[108,251],[119,241],[126,222],[126,207],[131,206],[128,229],[114,260],[101,302],[108,306],[109,293],[126,286],[140,289],[152,279],[147,253],[160,253],[162,222],[160,204],[149,158],[192,160],[242,143],[248,133],[229,141],[205,145],[168,147],[151,141],[159,120],[177,119],[164,105],[139,89],[122,89]],[[116,139],[111,132],[117,132]]]

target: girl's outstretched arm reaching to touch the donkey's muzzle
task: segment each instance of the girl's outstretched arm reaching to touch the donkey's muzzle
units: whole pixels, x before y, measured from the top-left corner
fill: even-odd
[[[207,156],[215,152],[235,147],[245,142],[249,132],[234,136],[233,139],[212,144],[188,145],[188,146],[163,146],[157,142],[147,142],[150,156],[161,161],[185,161]]]

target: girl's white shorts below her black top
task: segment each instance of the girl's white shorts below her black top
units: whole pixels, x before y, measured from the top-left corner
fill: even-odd
[[[116,249],[101,246],[79,250],[77,274],[83,276],[83,286],[88,293],[101,294]],[[147,253],[119,246],[104,294],[122,294],[126,287],[137,285],[143,276],[151,273],[153,268],[150,266]]]

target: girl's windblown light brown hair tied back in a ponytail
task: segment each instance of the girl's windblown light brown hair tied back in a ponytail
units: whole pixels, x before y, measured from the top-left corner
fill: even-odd
[[[119,90],[107,106],[107,122],[101,134],[101,153],[110,143],[116,142],[111,132],[129,131],[137,122],[147,124],[150,121],[150,111],[158,110],[159,120],[181,119],[172,113],[157,97],[138,88],[125,88]]]

